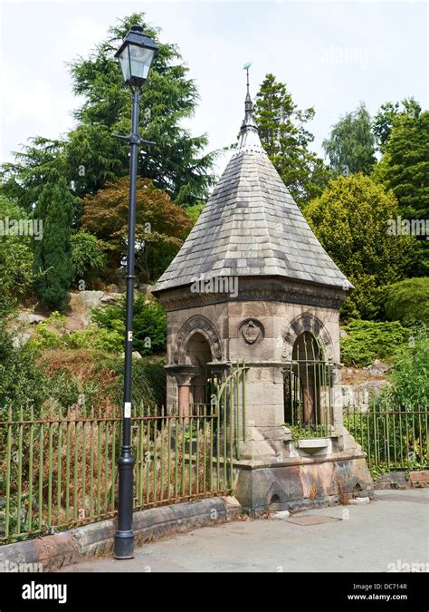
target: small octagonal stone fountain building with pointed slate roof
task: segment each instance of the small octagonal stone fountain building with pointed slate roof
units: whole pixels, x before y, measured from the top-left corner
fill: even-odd
[[[234,478],[253,515],[371,490],[342,420],[338,309],[351,288],[263,150],[247,91],[237,148],[153,293],[167,308],[170,410],[186,415],[207,376],[245,360]]]

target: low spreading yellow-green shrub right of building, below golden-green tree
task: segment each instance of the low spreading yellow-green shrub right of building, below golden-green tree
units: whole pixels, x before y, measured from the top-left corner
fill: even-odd
[[[364,366],[375,359],[392,361],[398,345],[405,343],[410,331],[399,322],[361,321],[353,319],[344,327],[341,338],[341,360],[346,365]]]

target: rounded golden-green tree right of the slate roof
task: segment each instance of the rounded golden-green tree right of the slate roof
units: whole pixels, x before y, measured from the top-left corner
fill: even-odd
[[[338,177],[304,209],[329,256],[355,286],[341,309],[345,318],[383,315],[386,286],[402,280],[413,262],[414,238],[391,236],[395,196],[358,173]]]

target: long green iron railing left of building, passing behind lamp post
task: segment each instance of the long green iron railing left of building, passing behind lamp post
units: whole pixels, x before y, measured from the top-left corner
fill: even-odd
[[[237,365],[215,401],[192,404],[186,420],[164,407],[133,408],[136,510],[232,490],[244,385],[245,368]],[[29,407],[1,414],[0,543],[114,516],[119,411],[73,406],[36,414]]]

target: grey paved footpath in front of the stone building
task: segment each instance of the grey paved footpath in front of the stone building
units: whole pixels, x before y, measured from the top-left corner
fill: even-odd
[[[377,500],[367,505],[290,517],[313,517],[308,522],[316,524],[231,522],[147,544],[134,559],[96,559],[62,571],[372,572],[387,571],[389,564],[427,564],[428,502],[429,490],[377,491]]]

